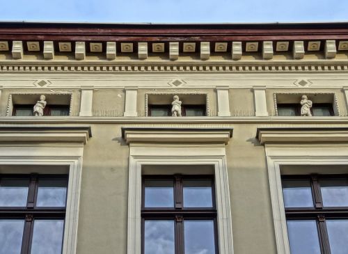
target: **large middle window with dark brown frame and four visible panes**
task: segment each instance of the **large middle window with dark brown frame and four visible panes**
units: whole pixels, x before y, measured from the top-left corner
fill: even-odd
[[[216,254],[212,176],[144,176],[143,254]]]

